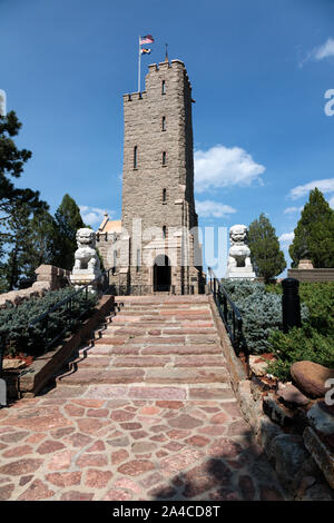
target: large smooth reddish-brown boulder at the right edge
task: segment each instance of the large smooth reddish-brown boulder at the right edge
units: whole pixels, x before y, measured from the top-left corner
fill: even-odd
[[[291,366],[291,375],[297,387],[308,397],[325,396],[327,379],[334,379],[334,369],[313,362],[297,362]]]

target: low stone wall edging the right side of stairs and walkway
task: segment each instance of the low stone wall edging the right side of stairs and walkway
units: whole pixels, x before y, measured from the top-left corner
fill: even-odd
[[[275,468],[282,486],[295,500],[334,501],[331,490],[334,489],[333,454],[314,430],[307,426],[305,418],[295,420],[298,434],[292,430],[289,413],[283,406],[276,406],[275,411],[271,379],[266,391],[250,368],[245,368],[245,364],[236,357],[216,304],[212,297],[209,302],[242,413],[250,425],[254,440],[263,447]]]

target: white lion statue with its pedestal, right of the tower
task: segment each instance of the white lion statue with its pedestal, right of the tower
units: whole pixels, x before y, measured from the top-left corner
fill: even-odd
[[[229,243],[230,248],[225,278],[256,278],[250,262],[250,250],[247,245],[247,227],[245,225],[230,227]]]

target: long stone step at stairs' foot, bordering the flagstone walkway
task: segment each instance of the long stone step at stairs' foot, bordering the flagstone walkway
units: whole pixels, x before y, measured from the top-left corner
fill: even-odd
[[[101,384],[197,384],[197,383],[229,383],[228,372],[222,368],[95,368],[87,367],[58,376],[57,384],[61,385],[101,385]]]

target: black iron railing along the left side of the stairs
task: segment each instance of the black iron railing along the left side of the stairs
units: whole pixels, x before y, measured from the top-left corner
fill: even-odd
[[[45,313],[40,314],[36,318],[29,322],[28,325],[22,326],[22,330],[31,330],[33,333],[33,329],[36,328],[37,325],[41,325],[42,330],[43,330],[43,348],[45,352],[48,351],[50,347],[52,347],[56,342],[58,342],[66,332],[68,332],[73,323],[78,322],[85,314],[88,313],[88,310],[91,307],[91,300],[89,300],[89,292],[90,289],[95,289],[95,293],[97,296],[101,296],[102,294],[112,294],[110,293],[110,272],[111,269],[108,269],[104,272],[100,276],[97,278],[92,279],[85,286],[80,287],[78,290],[73,290],[69,296],[66,298],[61,299],[58,302],[56,305],[52,307],[48,308]],[[86,307],[80,307],[79,308],[79,314],[75,314],[76,304],[78,303],[78,298],[81,299],[84,296],[84,299],[86,302]],[[65,315],[65,328],[61,332],[57,332],[55,336],[55,332],[49,329],[49,320],[51,318],[51,315],[59,310],[63,309]],[[7,347],[9,334],[2,333],[0,335],[0,373],[2,371],[2,361],[3,361],[3,353]]]

